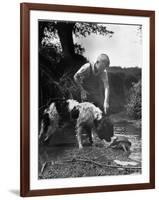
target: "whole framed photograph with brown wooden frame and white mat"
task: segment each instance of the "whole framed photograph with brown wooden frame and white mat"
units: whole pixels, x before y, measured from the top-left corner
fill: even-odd
[[[155,187],[155,12],[21,3],[21,196]]]

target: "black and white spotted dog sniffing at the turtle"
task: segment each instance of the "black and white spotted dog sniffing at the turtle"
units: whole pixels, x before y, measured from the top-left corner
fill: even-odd
[[[73,121],[78,146],[83,148],[82,134],[86,133],[90,143],[95,134],[104,141],[110,142],[113,136],[113,125],[103,116],[102,111],[90,102],[79,103],[76,100],[59,100],[50,104],[44,111],[41,121],[39,139],[46,141],[59,128],[61,123]]]

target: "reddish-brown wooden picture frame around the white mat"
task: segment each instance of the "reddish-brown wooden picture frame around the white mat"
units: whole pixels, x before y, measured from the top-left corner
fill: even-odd
[[[34,4],[21,3],[21,146],[20,146],[20,195],[23,197],[42,196],[42,195],[62,195],[76,193],[93,193],[107,191],[124,191],[124,190],[139,190],[155,188],[155,12],[147,10],[128,10],[116,8],[100,8],[100,7],[83,7],[71,5],[49,5],[49,4]],[[149,116],[147,123],[149,124],[148,131],[148,146],[149,146],[149,166],[148,166],[148,181],[136,183],[121,183],[113,185],[84,185],[70,187],[52,187],[52,188],[31,188],[32,168],[30,167],[30,155],[34,154],[30,150],[31,147],[31,126],[30,126],[30,98],[31,98],[31,12],[59,12],[59,13],[77,13],[77,14],[96,14],[108,16],[124,16],[138,17],[148,19],[149,25]],[[84,19],[85,20],[85,19]],[[148,89],[147,89],[148,91]],[[36,133],[38,136],[38,133]]]

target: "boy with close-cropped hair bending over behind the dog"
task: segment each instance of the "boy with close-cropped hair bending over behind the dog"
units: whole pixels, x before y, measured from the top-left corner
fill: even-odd
[[[81,100],[98,106],[105,114],[109,108],[109,81],[107,69],[109,57],[100,54],[95,64],[84,64],[74,75],[74,80],[81,89]]]

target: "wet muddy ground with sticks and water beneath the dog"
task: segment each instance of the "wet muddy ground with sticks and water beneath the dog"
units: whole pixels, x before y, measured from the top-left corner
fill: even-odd
[[[122,114],[111,116],[111,119],[114,135],[124,135],[131,142],[130,152],[108,148],[109,144],[104,144],[98,137],[93,146],[83,138],[84,148],[79,150],[74,131],[68,126],[59,131],[45,147],[39,148],[39,178],[141,173],[141,123],[128,120]]]

